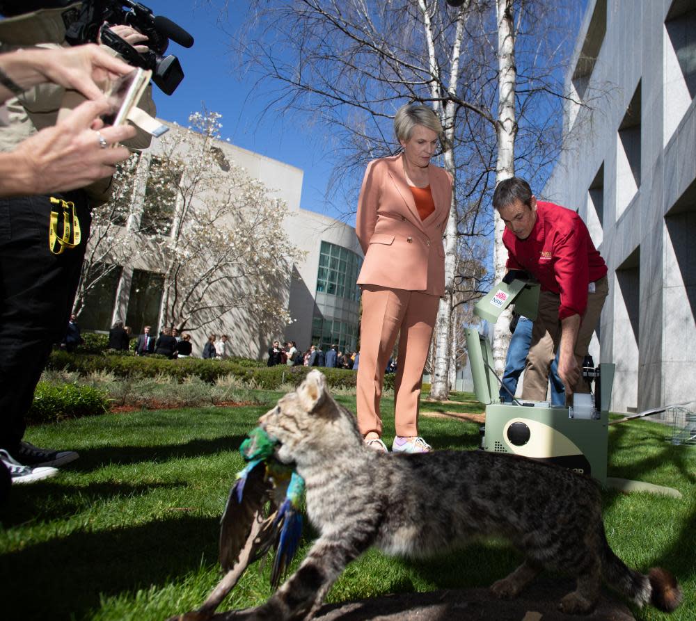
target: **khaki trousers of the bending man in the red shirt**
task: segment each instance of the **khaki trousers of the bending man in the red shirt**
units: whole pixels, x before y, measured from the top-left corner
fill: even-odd
[[[609,281],[606,276],[594,283],[594,292],[587,293],[587,309],[580,320],[580,330],[578,330],[578,339],[575,344],[575,359],[578,366],[582,366],[583,358],[590,348],[592,334],[597,327],[608,293]],[[524,369],[522,398],[525,400],[546,400],[548,369],[555,358],[561,337],[560,321],[558,321],[559,306],[560,296],[551,293],[551,291],[541,291],[539,294],[539,314],[532,327],[532,341]],[[582,375],[576,385],[572,387],[572,392],[590,392],[590,387]],[[568,387],[566,387],[567,405],[570,398]]]

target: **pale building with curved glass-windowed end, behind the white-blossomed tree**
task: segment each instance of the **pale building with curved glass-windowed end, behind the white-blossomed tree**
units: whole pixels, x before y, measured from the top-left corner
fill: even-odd
[[[185,131],[171,125],[171,131]],[[248,175],[269,188],[269,195],[287,204],[289,216],[283,222],[285,233],[297,249],[285,257],[288,277],[278,283],[274,295],[278,307],[287,309],[293,318],[285,330],[265,332],[258,329],[253,309],[226,312],[203,330],[191,332],[194,355],[200,355],[209,332],[228,334],[233,355],[264,358],[274,340],[296,341],[301,350],[310,344],[322,344],[324,350],[338,344],[342,350],[354,350],[359,327],[359,291],[356,287],[363,253],[355,229],[328,216],[300,208],[303,172],[283,162],[218,141],[216,149],[223,159],[241,166]],[[143,152],[138,166],[141,179],[148,178],[152,158],[157,157],[158,143]],[[143,227],[145,186],[134,188],[129,216],[121,234],[141,237],[147,243]],[[144,231],[144,232],[143,232]],[[150,232],[152,234],[152,232]],[[283,257],[279,257],[279,260]],[[86,300],[80,323],[86,330],[105,331],[120,320],[139,333],[143,325],[160,323],[162,277],[157,261],[138,259],[119,266]],[[253,283],[248,284],[253,287]],[[228,292],[220,291],[223,295]],[[243,291],[236,295],[244,295]],[[184,327],[184,331],[187,331]]]

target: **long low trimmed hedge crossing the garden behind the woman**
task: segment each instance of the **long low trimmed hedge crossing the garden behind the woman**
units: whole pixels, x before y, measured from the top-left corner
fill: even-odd
[[[196,376],[209,383],[218,378],[235,376],[245,382],[253,382],[260,388],[277,389],[284,383],[298,385],[311,370],[308,366],[242,366],[235,360],[203,360],[201,358],[179,358],[168,360],[155,356],[130,356],[130,355],[88,355],[81,353],[68,353],[54,351],[49,358],[49,369],[67,369],[76,371],[81,375],[88,375],[95,371],[108,371],[122,378],[155,377],[160,374],[176,378],[180,382],[189,376]],[[326,367],[313,367],[319,369],[326,376],[329,387],[354,388],[356,385],[356,371],[346,369],[328,369]],[[394,374],[388,373],[384,377],[384,387],[394,387]]]

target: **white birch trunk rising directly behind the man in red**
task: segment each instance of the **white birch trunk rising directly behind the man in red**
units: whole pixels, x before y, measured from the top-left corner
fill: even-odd
[[[496,166],[496,185],[515,174],[515,136],[517,122],[515,120],[515,31],[512,0],[496,0],[496,15],[498,19],[498,163]],[[498,210],[493,209],[495,218],[495,245],[493,247],[493,264],[496,282],[505,275],[507,250],[503,245],[505,225],[498,216]],[[502,374],[505,370],[505,357],[510,342],[509,335],[510,312],[506,310],[496,323],[493,338],[493,360],[496,371]]]

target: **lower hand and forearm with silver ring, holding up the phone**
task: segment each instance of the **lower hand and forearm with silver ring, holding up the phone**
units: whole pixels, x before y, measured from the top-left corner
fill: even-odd
[[[108,110],[106,101],[84,102],[13,152],[0,153],[0,196],[67,191],[111,177],[129,151],[108,146],[136,132],[128,125],[102,127],[99,115]]]

